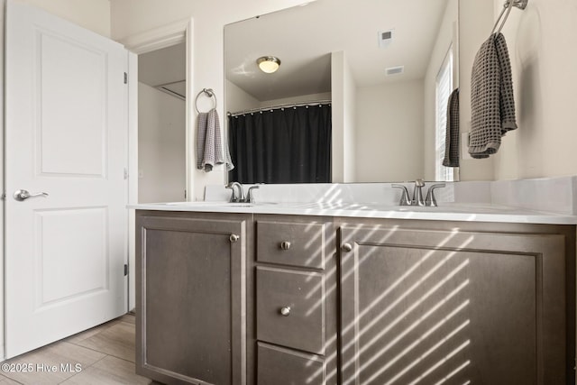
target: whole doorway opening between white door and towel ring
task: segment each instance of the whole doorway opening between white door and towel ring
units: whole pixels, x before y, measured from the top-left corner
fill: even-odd
[[[186,200],[186,43],[138,56],[138,203]]]

